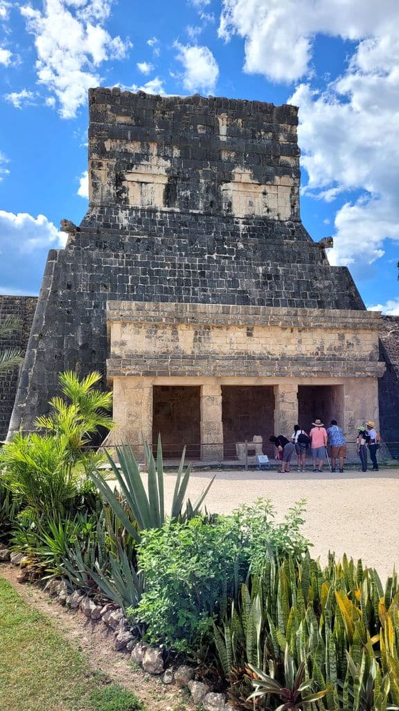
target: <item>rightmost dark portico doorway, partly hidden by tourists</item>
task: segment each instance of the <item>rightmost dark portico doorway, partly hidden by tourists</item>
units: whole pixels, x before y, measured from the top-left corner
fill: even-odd
[[[327,429],[332,419],[344,424],[344,385],[299,385],[298,424],[309,432],[321,419]]]

